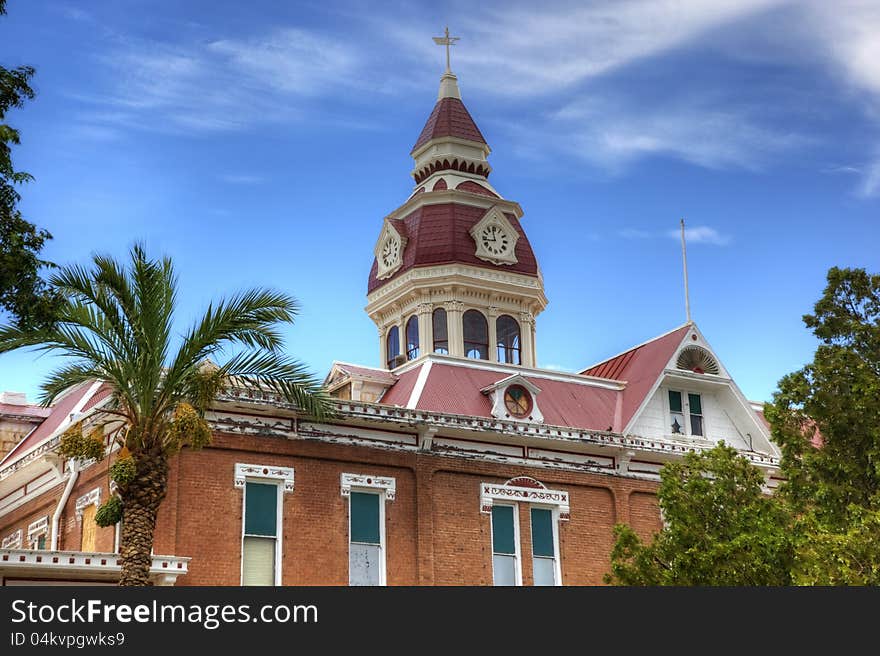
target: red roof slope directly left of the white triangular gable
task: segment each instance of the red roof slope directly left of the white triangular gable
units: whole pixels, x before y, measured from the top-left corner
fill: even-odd
[[[626,381],[620,430],[626,427],[639,409],[688,330],[690,324],[685,324],[581,372],[584,376]]]

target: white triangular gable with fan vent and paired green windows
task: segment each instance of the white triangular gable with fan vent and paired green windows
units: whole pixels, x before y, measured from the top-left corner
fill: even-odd
[[[624,433],[723,440],[740,450],[779,454],[766,425],[693,323]]]

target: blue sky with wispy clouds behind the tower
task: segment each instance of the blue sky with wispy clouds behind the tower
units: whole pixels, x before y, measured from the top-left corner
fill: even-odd
[[[578,370],[684,321],[752,399],[811,358],[830,266],[880,270],[880,5],[782,0],[278,3],[10,0],[0,62],[22,211],[59,263],[171,255],[181,331],[251,285],[296,296],[292,353],[378,364],[363,312],[383,217],[444,67],[518,201],[550,305],[540,366]],[[35,398],[57,364],[0,357]]]

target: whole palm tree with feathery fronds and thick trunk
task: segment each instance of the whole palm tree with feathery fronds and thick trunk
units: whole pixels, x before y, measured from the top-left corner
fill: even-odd
[[[168,460],[183,446],[210,440],[203,414],[217,393],[228,385],[268,389],[317,419],[331,413],[328,397],[281,351],[278,327],[292,323],[298,310],[286,294],[252,289],[212,303],[176,339],[171,260],[151,260],[141,245],[132,248],[127,266],[96,255],[90,267],[62,268],[50,282],[65,298],[57,321],[38,331],[0,327],[0,353],[36,347],[67,356],[41,386],[44,405],[85,381],[109,385],[101,411],[115,422],[112,439],[128,466],[114,476],[122,502],[119,583],[149,585]],[[224,364],[213,364],[218,359]]]

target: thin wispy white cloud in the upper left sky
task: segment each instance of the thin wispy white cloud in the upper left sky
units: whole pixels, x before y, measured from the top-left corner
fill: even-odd
[[[80,99],[98,107],[88,117],[93,124],[241,130],[302,118],[309,101],[363,85],[356,52],[338,39],[298,29],[209,43],[121,39],[101,57],[112,75],[109,89]]]

